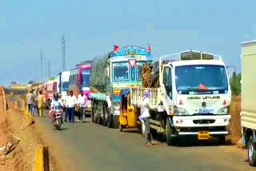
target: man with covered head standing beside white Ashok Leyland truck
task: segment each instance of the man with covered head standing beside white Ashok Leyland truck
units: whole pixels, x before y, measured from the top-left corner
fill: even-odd
[[[141,108],[141,117],[144,121],[145,125],[145,137],[146,137],[146,145],[155,145],[156,142],[153,141],[152,134],[150,133],[150,92],[149,90],[144,91],[144,97],[142,100],[142,108]]]

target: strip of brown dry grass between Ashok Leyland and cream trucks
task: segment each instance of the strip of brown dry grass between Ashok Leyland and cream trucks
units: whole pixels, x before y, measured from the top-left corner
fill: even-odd
[[[236,144],[237,141],[241,138],[242,128],[241,128],[241,97],[233,96],[232,102],[230,105],[230,115],[231,115],[231,124],[230,124],[230,136],[228,139],[232,144]]]

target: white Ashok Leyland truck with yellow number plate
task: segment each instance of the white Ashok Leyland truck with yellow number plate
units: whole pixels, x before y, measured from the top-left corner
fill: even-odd
[[[231,90],[226,66],[219,55],[188,50],[159,58],[153,72],[157,87],[131,89],[132,105],[140,109],[145,89],[150,92],[150,128],[162,133],[167,145],[185,136],[225,143],[230,125]],[[151,74],[147,76],[147,74]],[[157,75],[157,77],[156,77]],[[143,132],[142,126],[142,132]]]

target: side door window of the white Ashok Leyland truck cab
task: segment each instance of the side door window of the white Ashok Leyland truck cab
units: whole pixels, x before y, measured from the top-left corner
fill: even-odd
[[[167,95],[170,97],[170,99],[172,99],[172,75],[170,67],[164,68],[163,84],[165,85]]]

